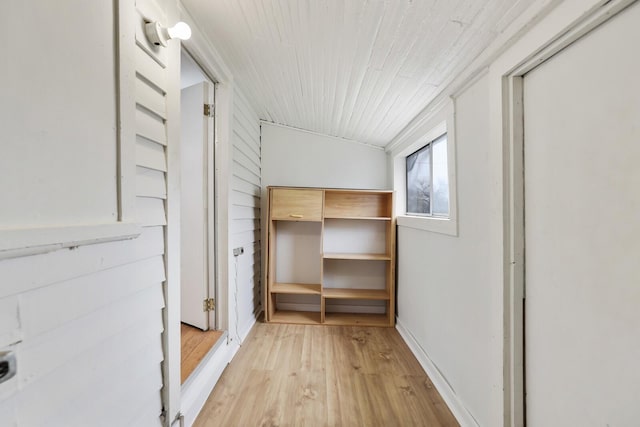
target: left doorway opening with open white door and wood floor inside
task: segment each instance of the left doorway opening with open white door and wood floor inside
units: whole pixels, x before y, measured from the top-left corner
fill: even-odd
[[[217,328],[215,82],[186,50],[180,66],[180,334],[184,384],[224,332]]]

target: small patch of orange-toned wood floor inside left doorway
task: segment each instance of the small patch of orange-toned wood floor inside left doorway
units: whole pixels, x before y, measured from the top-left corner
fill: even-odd
[[[185,323],[180,324],[180,379],[182,384],[198,367],[198,364],[213,348],[222,334],[222,331],[201,331]]]

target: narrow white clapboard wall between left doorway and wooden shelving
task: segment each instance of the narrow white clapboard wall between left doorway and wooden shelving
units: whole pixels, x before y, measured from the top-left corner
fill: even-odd
[[[243,247],[244,254],[233,260],[229,292],[232,297],[237,293],[237,327],[244,336],[261,305],[261,146],[258,116],[238,90],[234,93],[232,144],[229,241],[232,248]]]

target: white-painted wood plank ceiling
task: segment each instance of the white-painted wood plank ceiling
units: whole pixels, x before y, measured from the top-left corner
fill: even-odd
[[[389,143],[530,0],[183,0],[261,119]]]

